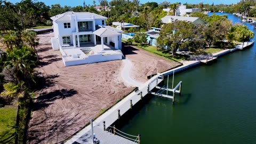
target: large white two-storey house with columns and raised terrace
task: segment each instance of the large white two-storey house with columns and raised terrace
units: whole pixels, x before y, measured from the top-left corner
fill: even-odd
[[[51,17],[53,50],[65,66],[122,59],[122,30],[106,26],[106,17],[90,12],[66,12]]]

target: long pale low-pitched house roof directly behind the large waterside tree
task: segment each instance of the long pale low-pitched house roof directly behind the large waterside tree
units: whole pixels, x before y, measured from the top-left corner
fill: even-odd
[[[201,18],[197,18],[197,17],[181,17],[181,16],[166,15],[161,20],[163,23],[172,23],[174,21],[180,20],[180,21],[192,22],[194,25],[206,25],[207,24],[207,22],[205,22]]]

